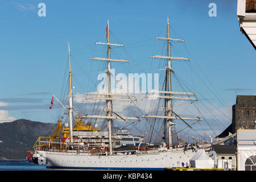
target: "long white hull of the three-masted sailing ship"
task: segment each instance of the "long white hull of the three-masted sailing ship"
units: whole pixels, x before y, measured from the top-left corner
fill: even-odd
[[[77,169],[131,169],[131,170],[163,170],[168,167],[181,167],[188,163],[196,152],[183,148],[170,149],[154,154],[131,155],[90,155],[88,153],[41,151],[46,154],[47,168]]]

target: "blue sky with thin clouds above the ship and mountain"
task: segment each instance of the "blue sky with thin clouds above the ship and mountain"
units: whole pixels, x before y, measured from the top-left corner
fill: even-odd
[[[40,2],[46,4],[46,17],[38,16]],[[217,5],[216,17],[208,15],[208,5],[212,2]],[[150,56],[159,55],[163,48],[163,43],[154,38],[165,35],[167,16],[171,36],[186,40],[185,46],[177,45],[181,48],[174,49],[174,54],[184,51],[192,59],[193,70],[214,86],[231,110],[236,92],[256,93],[255,49],[240,32],[236,11],[237,2],[229,0],[1,1],[1,119],[55,122],[56,112],[48,106],[52,94],[60,94],[67,42],[71,43],[73,59],[77,62],[72,62],[75,93],[92,91],[89,88],[96,83],[93,80],[100,64],[92,63],[90,57],[102,56],[102,47],[93,43],[105,41],[108,19],[110,42],[127,45],[126,52],[120,51],[118,55],[117,49],[117,55],[132,59],[128,66],[115,64],[118,72],[157,72],[158,64]],[[209,89],[197,85],[198,77],[194,76],[192,81],[205,98],[223,107]]]

